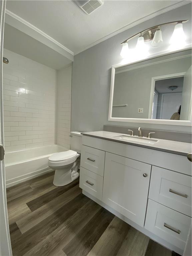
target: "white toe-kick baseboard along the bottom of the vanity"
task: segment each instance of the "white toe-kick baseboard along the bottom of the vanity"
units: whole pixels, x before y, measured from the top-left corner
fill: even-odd
[[[89,193],[87,193],[85,190],[82,191],[82,193],[89,197],[90,199],[92,199],[93,201],[95,201],[96,203],[98,203],[99,205],[101,205],[103,208],[105,208],[106,210],[108,210],[109,212],[113,213],[115,216],[117,216],[118,218],[120,218],[121,220],[125,221],[126,223],[128,223],[130,226],[134,227],[135,229],[137,229],[138,231],[140,231],[141,233],[143,233],[144,235],[148,236],[149,238],[151,238],[152,240],[154,240],[155,242],[157,242],[158,244],[163,245],[164,247],[168,248],[171,251],[174,251],[180,255],[183,255],[183,250],[179,249],[178,247],[170,244],[169,242],[165,241],[164,239],[154,235],[153,233],[151,233],[150,231],[148,231],[147,229],[145,229],[144,227],[139,226],[138,224],[136,224],[135,222],[133,222],[132,220],[126,218],[124,215],[122,215],[121,213],[117,212],[116,210],[114,210],[113,208],[111,208],[110,206],[106,205],[105,203],[103,203],[102,201],[100,201],[99,199],[97,199],[96,197],[90,195]]]

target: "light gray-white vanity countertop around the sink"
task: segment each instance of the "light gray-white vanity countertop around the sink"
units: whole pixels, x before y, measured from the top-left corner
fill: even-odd
[[[111,140],[116,141],[124,144],[144,147],[144,148],[150,148],[154,150],[164,151],[168,153],[178,154],[187,156],[189,152],[192,152],[192,144],[186,143],[186,142],[180,142],[180,141],[173,141],[173,140],[163,140],[163,139],[156,139],[158,140],[155,144],[146,144],[144,142],[137,142],[137,141],[125,141],[120,138],[114,138],[114,136],[118,135],[128,135],[128,134],[122,134],[117,132],[107,132],[107,131],[96,131],[96,132],[83,132],[82,133],[85,136],[91,136],[95,138],[105,139],[105,140]],[[135,136],[137,137],[137,136]],[[144,137],[145,138],[145,137]]]

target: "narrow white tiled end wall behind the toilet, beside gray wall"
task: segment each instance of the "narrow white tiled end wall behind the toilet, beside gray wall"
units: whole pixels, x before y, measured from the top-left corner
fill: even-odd
[[[57,71],[57,144],[70,149],[72,65]]]

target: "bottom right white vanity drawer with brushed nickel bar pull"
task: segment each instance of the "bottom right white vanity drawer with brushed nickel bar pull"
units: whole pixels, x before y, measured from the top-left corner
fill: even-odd
[[[181,250],[185,248],[191,217],[149,199],[145,228]]]

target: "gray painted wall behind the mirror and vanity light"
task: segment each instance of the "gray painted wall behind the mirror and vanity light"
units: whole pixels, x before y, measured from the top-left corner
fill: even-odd
[[[191,132],[191,127],[139,124],[108,121],[111,66],[122,61],[120,43],[135,33],[156,24],[189,19],[184,24],[187,37],[191,37],[191,4],[181,6],[153,19],[128,29],[100,44],[97,44],[74,57],[72,67],[72,115],[71,130],[96,131],[102,130],[104,124],[143,127],[172,131]],[[165,32],[172,32],[174,26],[166,26]],[[99,29],[99,28],[98,28]],[[168,41],[171,34],[164,36]],[[136,41],[133,40],[132,44]],[[133,45],[132,45],[133,46]],[[159,51],[155,48],[151,51]]]

